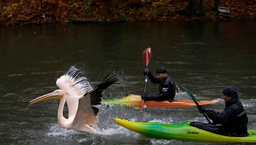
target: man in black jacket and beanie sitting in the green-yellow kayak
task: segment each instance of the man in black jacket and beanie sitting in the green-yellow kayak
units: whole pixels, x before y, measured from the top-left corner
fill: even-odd
[[[242,102],[238,99],[238,90],[233,86],[227,86],[222,91],[221,99],[224,99],[226,105],[222,112],[199,107],[201,113],[205,112],[213,120],[212,124],[191,122],[191,125],[224,136],[248,136],[248,117]]]

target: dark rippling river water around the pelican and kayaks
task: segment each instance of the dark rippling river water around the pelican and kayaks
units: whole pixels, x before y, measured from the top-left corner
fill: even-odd
[[[29,105],[58,89],[55,81],[70,66],[85,73],[95,86],[108,73],[118,82],[103,99],[143,94],[142,52],[151,47],[149,69],[167,68],[176,82],[176,99],[189,99],[181,86],[199,100],[220,98],[225,86],[235,86],[256,129],[256,22],[125,22],[121,24],[28,25],[0,27],[0,144],[216,144],[155,140],[114,123],[126,117],[139,122],[207,122],[198,109],[120,107],[102,104],[99,134],[61,128],[58,100]],[[158,85],[148,82],[148,94]],[[222,111],[224,101],[205,105]],[[67,107],[64,115],[67,117]]]

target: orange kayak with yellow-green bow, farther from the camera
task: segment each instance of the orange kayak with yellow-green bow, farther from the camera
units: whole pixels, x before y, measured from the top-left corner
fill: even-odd
[[[199,105],[207,105],[214,104],[218,102],[219,99],[214,99],[211,101],[198,101]],[[141,107],[142,98],[141,95],[131,94],[129,96],[125,96],[121,99],[109,99],[102,101],[104,104],[115,104],[115,105],[123,105],[126,107]],[[196,107],[195,102],[189,100],[180,100],[175,99],[172,102],[169,101],[145,101],[144,108],[190,108]]]

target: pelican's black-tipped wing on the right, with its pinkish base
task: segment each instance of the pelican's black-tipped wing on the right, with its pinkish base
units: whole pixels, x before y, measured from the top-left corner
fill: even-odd
[[[111,74],[111,73],[110,73]],[[108,86],[118,82],[114,76],[106,76],[98,85],[87,92],[83,98],[79,99],[79,107],[77,109],[76,117],[73,124],[86,124],[96,126],[98,122],[99,107],[102,100],[102,91],[107,89]]]

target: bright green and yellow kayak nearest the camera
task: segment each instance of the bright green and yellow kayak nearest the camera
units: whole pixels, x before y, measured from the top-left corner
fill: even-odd
[[[248,130],[249,136],[246,137],[229,137],[192,127],[189,125],[189,122],[177,124],[138,123],[120,118],[115,118],[114,121],[128,130],[135,131],[136,133],[142,134],[146,137],[157,139],[195,142],[256,143],[256,130]]]

